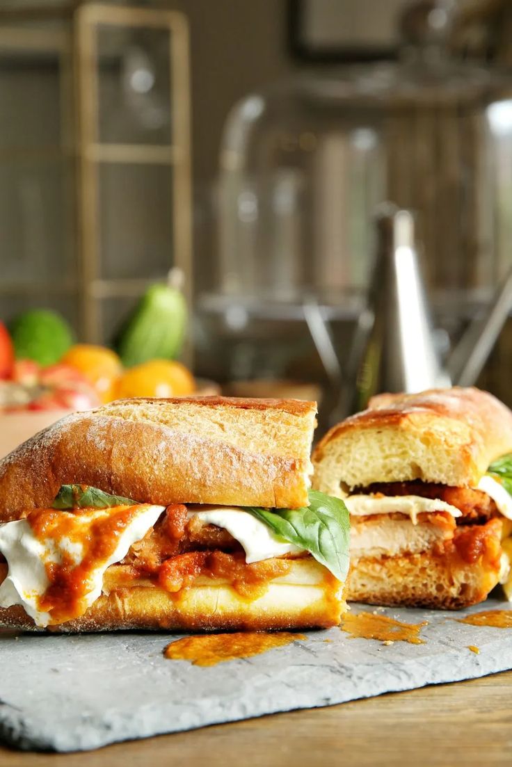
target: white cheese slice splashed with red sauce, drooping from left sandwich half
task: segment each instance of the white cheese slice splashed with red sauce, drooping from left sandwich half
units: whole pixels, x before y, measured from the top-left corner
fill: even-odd
[[[45,509],[0,525],[0,551],[8,563],[0,607],[21,605],[41,628],[84,614],[101,595],[104,571],[144,538],[164,510]]]

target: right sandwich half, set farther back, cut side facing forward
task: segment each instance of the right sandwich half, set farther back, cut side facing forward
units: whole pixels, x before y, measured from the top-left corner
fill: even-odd
[[[312,462],[350,512],[348,600],[457,609],[511,593],[512,413],[491,394],[378,395]]]

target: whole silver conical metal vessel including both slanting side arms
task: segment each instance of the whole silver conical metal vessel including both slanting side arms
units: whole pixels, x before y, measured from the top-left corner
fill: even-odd
[[[368,301],[344,370],[321,311],[310,305],[304,308],[332,390],[340,391],[341,382],[338,404],[329,418],[333,423],[363,410],[374,394],[384,391],[472,386],[512,308],[510,267],[490,304],[471,321],[443,367],[415,245],[414,216],[385,202],[375,222],[377,249]]]

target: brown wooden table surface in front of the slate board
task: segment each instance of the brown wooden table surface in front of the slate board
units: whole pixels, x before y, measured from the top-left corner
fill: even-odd
[[[0,748],[8,767],[512,764],[512,672],[249,719],[80,754]]]

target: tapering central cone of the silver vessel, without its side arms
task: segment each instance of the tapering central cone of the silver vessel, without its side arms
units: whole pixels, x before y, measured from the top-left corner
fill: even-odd
[[[362,410],[382,391],[416,392],[450,386],[434,344],[433,325],[415,248],[411,212],[385,203],[376,217],[378,246],[368,304],[355,333],[352,397]],[[354,385],[355,381],[355,385]]]

